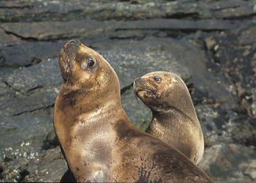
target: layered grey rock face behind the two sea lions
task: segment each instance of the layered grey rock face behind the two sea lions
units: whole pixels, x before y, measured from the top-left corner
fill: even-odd
[[[78,38],[115,69],[125,112],[151,112],[135,78],[171,71],[188,85],[215,182],[256,181],[256,1],[0,1],[0,182],[59,181],[52,126],[58,54]]]

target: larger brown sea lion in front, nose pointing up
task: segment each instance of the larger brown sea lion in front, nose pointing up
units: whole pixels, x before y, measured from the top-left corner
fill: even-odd
[[[212,182],[179,150],[135,128],[118,77],[78,40],[61,49],[54,130],[77,182]]]

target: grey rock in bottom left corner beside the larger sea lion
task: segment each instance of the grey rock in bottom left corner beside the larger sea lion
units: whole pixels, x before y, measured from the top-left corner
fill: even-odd
[[[67,170],[59,147],[45,152],[22,153],[12,161],[1,163],[1,167],[3,182],[60,182]]]

